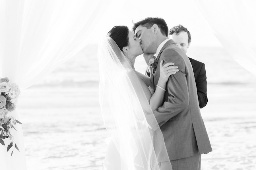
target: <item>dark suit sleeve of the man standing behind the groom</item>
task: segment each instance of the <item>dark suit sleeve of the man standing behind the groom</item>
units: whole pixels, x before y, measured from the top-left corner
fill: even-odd
[[[207,81],[206,81],[206,71],[205,64],[203,63],[199,75],[196,80],[197,85],[197,96],[199,100],[199,107],[203,108],[208,102],[207,98]]]

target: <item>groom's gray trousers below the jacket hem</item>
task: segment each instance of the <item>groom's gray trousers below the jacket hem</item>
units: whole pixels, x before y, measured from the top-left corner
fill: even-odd
[[[173,160],[170,162],[172,164],[172,170],[200,170],[201,154]],[[170,167],[167,167],[168,164],[166,162],[160,162],[159,166],[160,170],[170,170]]]

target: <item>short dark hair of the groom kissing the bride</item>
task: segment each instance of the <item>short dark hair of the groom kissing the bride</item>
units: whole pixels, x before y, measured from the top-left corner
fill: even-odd
[[[133,23],[134,24],[134,23]],[[165,22],[165,20],[163,18],[158,18],[158,17],[148,17],[148,18],[145,18],[144,20],[141,20],[139,22],[136,22],[134,25],[133,25],[133,32],[135,32],[136,28],[138,26],[144,26],[146,28],[151,28],[154,24],[156,24],[159,28],[160,28],[160,31],[163,35],[165,35],[166,37],[168,37],[168,26]]]

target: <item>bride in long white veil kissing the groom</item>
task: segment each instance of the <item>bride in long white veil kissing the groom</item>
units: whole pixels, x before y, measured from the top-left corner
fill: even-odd
[[[99,45],[100,105],[112,140],[104,170],[156,170],[161,169],[158,159],[169,161],[152,111],[164,102],[166,82],[178,69],[161,61],[154,92],[150,78],[134,68],[136,57],[143,54],[140,42],[126,26],[115,26]]]

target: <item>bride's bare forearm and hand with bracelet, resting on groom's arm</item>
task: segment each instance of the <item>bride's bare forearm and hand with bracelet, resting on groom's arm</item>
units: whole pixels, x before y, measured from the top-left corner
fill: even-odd
[[[173,63],[166,63],[164,66],[163,63],[164,62],[162,60],[160,63],[160,77],[157,83],[158,86],[156,87],[156,91],[149,100],[149,105],[152,111],[156,110],[163,103],[166,82],[168,81],[169,76],[179,71],[177,70],[177,66],[172,66]]]

